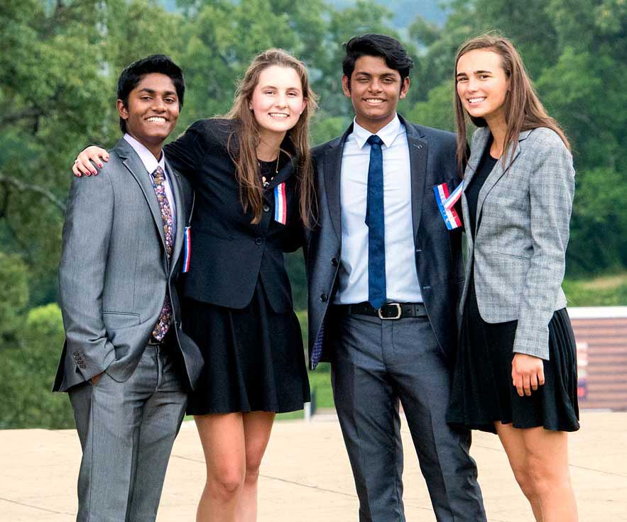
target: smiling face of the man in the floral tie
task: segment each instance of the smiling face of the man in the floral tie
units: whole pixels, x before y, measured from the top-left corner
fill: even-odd
[[[126,121],[126,132],[159,158],[161,145],[176,126],[180,106],[174,82],[158,72],[146,74],[129,94],[118,112]]]

